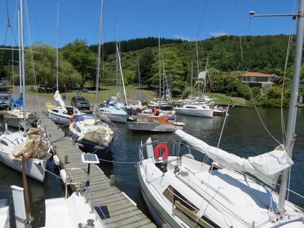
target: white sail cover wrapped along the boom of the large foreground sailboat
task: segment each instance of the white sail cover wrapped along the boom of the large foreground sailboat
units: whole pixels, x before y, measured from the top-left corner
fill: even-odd
[[[212,160],[224,165],[225,168],[249,172],[270,186],[277,183],[277,179],[283,169],[293,164],[285,150],[274,150],[245,159],[212,147],[182,130],[176,130],[175,133],[195,150],[206,154]]]

